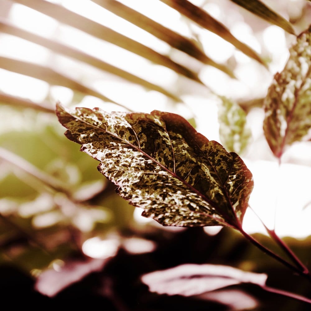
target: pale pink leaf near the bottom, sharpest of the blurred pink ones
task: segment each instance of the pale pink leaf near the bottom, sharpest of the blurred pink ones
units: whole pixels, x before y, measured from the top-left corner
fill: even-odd
[[[253,283],[264,286],[267,275],[229,266],[184,264],[142,276],[149,290],[158,294],[193,296],[226,286]]]

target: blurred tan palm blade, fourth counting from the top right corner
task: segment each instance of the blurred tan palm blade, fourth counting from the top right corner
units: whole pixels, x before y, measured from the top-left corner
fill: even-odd
[[[105,27],[95,21],[74,13],[61,5],[54,4],[45,0],[13,0],[16,3],[23,4],[47,16],[55,18],[57,21],[82,30],[96,38],[115,44],[132,53],[140,55],[151,62],[168,67],[175,72],[195,80],[202,84],[196,72],[172,61],[168,56],[162,55],[155,50],[132,40],[118,32]]]

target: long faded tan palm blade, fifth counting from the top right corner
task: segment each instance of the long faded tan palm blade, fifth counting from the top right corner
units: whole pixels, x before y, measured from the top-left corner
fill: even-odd
[[[36,44],[39,44],[41,46],[44,46],[47,49],[50,49],[51,51],[63,54],[67,57],[77,59],[81,62],[84,62],[84,63],[87,63],[91,66],[94,66],[100,70],[112,73],[118,77],[122,77],[123,79],[125,79],[129,82],[139,84],[143,87],[146,87],[146,88],[154,90],[154,91],[158,91],[158,92],[172,98],[175,101],[179,101],[179,102],[181,101],[181,99],[179,99],[176,95],[170,93],[169,91],[163,89],[160,86],[157,86],[157,85],[150,83],[150,82],[148,82],[148,81],[146,81],[140,77],[137,77],[137,76],[135,76],[135,75],[133,75],[127,71],[124,71],[124,70],[122,70],[118,67],[115,67],[109,63],[106,63],[99,58],[95,58],[95,57],[93,57],[87,53],[79,51],[78,49],[74,49],[68,45],[56,42],[56,41],[51,40],[51,39],[44,38],[44,37],[39,36],[39,35],[35,35],[29,31],[26,31],[20,27],[13,25],[12,23],[10,23],[10,22],[2,19],[2,18],[0,18],[0,31],[5,32],[5,33],[10,34],[10,35],[18,36],[22,39],[31,41],[31,42],[36,43]]]

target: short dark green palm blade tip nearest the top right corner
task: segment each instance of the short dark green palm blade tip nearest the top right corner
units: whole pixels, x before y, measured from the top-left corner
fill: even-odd
[[[286,21],[284,17],[272,11],[264,3],[259,0],[231,0],[232,2],[238,4],[244,9],[256,14],[257,16],[263,18],[264,20],[283,28],[290,34],[295,35],[295,30],[289,21]]]

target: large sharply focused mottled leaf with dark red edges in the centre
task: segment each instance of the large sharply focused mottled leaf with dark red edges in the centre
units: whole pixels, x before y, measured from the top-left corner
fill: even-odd
[[[60,105],[56,113],[67,138],[101,162],[100,172],[143,216],[171,226],[241,226],[252,174],[179,115]]]

